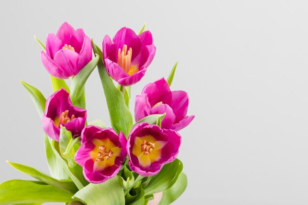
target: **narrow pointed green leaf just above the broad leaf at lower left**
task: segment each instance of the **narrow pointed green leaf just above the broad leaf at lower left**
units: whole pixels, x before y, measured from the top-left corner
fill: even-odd
[[[46,184],[52,185],[54,187],[57,187],[63,191],[66,191],[68,193],[76,193],[78,191],[77,187],[75,184],[72,182],[72,180],[58,180],[56,178],[53,178],[51,176],[48,176],[30,166],[27,165],[22,165],[18,163],[13,163],[7,161],[13,168],[16,170],[19,170],[29,176],[32,176],[33,178],[36,178],[37,180],[40,180],[42,182],[45,182]]]

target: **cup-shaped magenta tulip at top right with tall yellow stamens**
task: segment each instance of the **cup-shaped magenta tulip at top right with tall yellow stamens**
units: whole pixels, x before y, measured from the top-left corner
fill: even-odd
[[[113,40],[103,40],[103,59],[107,73],[122,86],[141,80],[154,59],[156,47],[148,30],[137,35],[132,29],[120,29]]]

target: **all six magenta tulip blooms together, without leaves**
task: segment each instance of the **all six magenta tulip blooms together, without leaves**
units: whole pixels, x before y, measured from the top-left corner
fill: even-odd
[[[154,59],[156,47],[150,31],[137,35],[132,29],[120,29],[113,40],[108,35],[102,43],[102,57],[107,73],[121,86],[131,86],[141,80]],[[79,73],[92,59],[92,44],[83,29],[74,30],[64,23],[57,35],[48,34],[46,53],[41,60],[47,71],[56,78],[66,79]],[[117,105],[114,105],[117,106]],[[162,78],[145,86],[136,96],[135,120],[154,114],[165,114],[161,126],[137,123],[126,140],[122,132],[112,128],[85,126],[87,111],[72,105],[63,88],[46,101],[42,117],[45,133],[59,141],[60,126],[81,136],[81,146],[75,161],[83,167],[85,178],[101,183],[114,177],[128,155],[130,169],[141,176],[157,174],[164,164],[176,159],[181,145],[177,132],[186,127],[194,116],[186,116],[188,95],[171,91]]]

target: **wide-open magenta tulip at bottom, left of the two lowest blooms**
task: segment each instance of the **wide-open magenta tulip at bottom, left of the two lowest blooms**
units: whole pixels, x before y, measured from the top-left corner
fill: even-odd
[[[75,161],[83,167],[85,178],[94,184],[102,183],[116,176],[126,158],[127,140],[111,128],[93,125],[85,127],[81,133],[81,146]]]

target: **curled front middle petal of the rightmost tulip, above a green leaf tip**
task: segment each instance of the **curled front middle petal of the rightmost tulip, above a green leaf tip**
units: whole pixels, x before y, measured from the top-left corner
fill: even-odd
[[[154,106],[151,110],[151,115],[164,113],[166,113],[166,116],[161,121],[161,127],[166,127],[175,122],[176,116],[174,115],[172,109],[167,104],[160,104]]]

